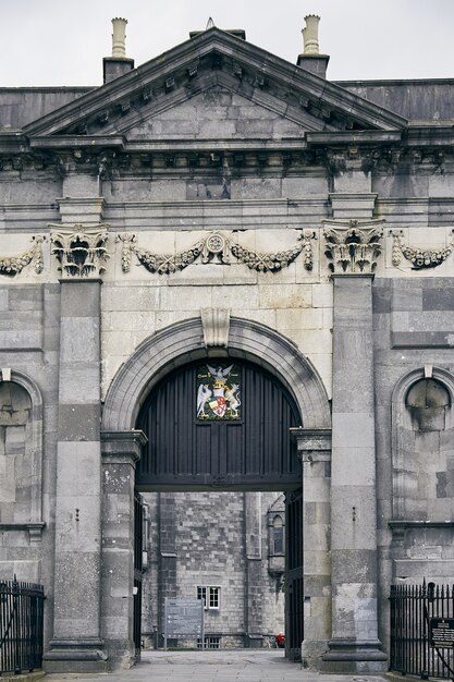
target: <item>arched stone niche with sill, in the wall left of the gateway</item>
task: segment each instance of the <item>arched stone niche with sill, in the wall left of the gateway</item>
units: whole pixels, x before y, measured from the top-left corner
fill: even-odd
[[[0,456],[9,470],[0,529],[27,529],[40,538],[42,522],[42,399],[36,383],[12,370],[0,381]]]

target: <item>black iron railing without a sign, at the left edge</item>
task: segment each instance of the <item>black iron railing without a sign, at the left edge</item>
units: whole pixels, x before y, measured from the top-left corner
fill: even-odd
[[[44,588],[0,581],[0,674],[41,667]]]

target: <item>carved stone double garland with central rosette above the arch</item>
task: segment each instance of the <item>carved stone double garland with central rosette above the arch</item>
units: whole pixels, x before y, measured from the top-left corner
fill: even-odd
[[[286,251],[263,254],[233,242],[221,232],[211,232],[193,244],[188,249],[176,254],[154,254],[136,244],[136,235],[121,233],[116,241],[122,243],[122,269],[123,272],[131,270],[132,254],[135,254],[140,265],[149,272],[158,275],[171,275],[184,270],[201,256],[201,263],[219,263],[229,265],[234,256],[244,263],[249,269],[257,272],[275,272],[293,263],[304,251],[304,266],[311,270],[314,266],[311,241],[317,239],[315,230],[302,230],[297,236],[297,243]]]

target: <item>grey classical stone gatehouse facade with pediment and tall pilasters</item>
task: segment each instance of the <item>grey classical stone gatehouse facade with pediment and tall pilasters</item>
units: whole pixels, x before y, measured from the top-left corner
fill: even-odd
[[[135,484],[289,492],[314,668],[385,669],[390,585],[454,581],[453,82],[330,82],[316,23],[296,65],[211,27],[0,90],[0,573],[45,585],[49,670],[134,659]],[[142,406],[221,361],[244,456],[159,451],[159,488]]]

